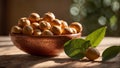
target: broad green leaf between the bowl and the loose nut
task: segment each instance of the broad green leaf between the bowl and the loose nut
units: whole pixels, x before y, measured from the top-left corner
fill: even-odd
[[[90,41],[73,39],[64,44],[64,51],[73,59],[82,59],[88,47],[90,47]]]

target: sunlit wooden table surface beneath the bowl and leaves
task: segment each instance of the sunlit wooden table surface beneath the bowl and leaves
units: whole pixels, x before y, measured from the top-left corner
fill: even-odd
[[[106,37],[97,49],[120,45],[120,38]],[[56,57],[31,56],[16,48],[9,37],[0,36],[0,68],[120,68],[120,54],[107,62],[70,59],[65,53]]]

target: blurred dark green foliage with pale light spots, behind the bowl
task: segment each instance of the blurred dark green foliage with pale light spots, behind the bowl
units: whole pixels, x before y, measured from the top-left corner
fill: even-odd
[[[70,7],[70,14],[74,21],[83,24],[83,35],[88,35],[101,26],[108,27],[107,35],[119,35],[120,0],[73,0],[73,4],[79,8],[72,10],[76,6]]]

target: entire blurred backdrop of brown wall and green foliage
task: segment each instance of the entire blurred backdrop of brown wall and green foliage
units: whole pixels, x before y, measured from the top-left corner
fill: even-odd
[[[83,36],[102,26],[108,27],[106,36],[120,36],[120,0],[0,0],[0,35],[9,35],[21,17],[49,11],[68,23],[80,22]]]

